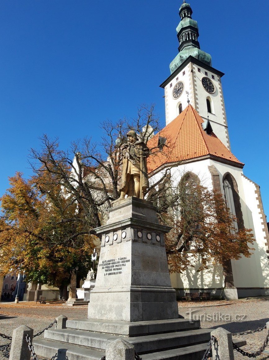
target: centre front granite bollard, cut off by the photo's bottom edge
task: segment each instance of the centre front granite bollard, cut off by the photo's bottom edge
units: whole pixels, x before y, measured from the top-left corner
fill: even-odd
[[[112,341],[105,350],[105,360],[135,360],[135,347],[123,339]]]

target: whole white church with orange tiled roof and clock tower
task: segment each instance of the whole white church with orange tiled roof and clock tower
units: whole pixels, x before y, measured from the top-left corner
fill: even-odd
[[[224,74],[212,67],[211,55],[200,49],[190,4],[184,1],[179,15],[179,53],[170,64],[171,75],[161,84],[166,126],[148,141],[150,148],[162,151],[148,158],[148,171],[159,180],[162,170],[169,167],[175,188],[187,174],[209,190],[222,193],[237,218],[235,226],[252,229],[256,241],[250,257],[227,259],[223,266],[212,264],[203,271],[199,271],[198,261],[185,273],[171,274],[172,286],[179,298],[185,291],[197,289],[226,299],[269,295],[266,216],[259,185],[244,175],[244,163],[230,150],[221,85]]]

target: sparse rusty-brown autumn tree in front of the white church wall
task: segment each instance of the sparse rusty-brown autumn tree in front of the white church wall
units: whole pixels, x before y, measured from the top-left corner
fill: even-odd
[[[220,264],[227,285],[230,260],[250,257],[254,250],[252,230],[238,229],[238,219],[232,215],[223,195],[200,185],[194,174],[181,177],[174,188],[174,197],[175,206],[168,207],[161,217],[172,228],[166,237],[170,272],[195,268],[198,261],[197,271]]]

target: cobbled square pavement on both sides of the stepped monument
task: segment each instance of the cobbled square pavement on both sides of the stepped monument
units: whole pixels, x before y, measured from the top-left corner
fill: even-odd
[[[87,306],[66,307],[59,305],[37,304],[34,302],[20,302],[19,304],[0,303],[0,333],[12,336],[13,329],[19,325],[27,325],[34,329],[34,334],[46,328],[59,315],[69,319],[87,318]],[[269,297],[245,298],[236,301],[204,301],[179,302],[179,313],[184,318],[199,319],[201,328],[223,327],[232,333],[254,330],[264,327],[269,321]],[[247,345],[243,350],[254,352],[263,344],[267,330],[258,333],[238,336],[245,339]],[[43,334],[41,335],[41,337]],[[0,350],[9,341],[0,338]],[[269,351],[269,347],[266,348]],[[0,351],[0,360],[8,359],[8,352]],[[247,357],[235,351],[235,359],[243,360]],[[269,359],[269,353],[256,357],[257,360]],[[41,359],[40,357],[38,360]],[[199,360],[199,359],[198,359]]]

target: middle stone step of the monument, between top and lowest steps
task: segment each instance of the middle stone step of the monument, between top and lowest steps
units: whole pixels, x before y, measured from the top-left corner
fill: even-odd
[[[136,352],[157,351],[165,348],[181,347],[209,341],[211,329],[186,330],[181,332],[129,337],[127,341],[135,346]],[[46,339],[69,342],[75,345],[103,349],[119,336],[94,333],[75,329],[48,329],[44,332]]]

